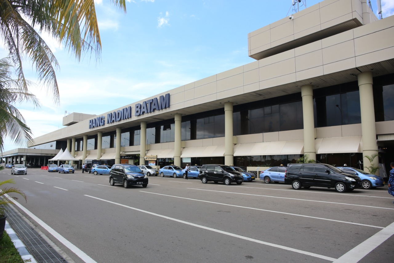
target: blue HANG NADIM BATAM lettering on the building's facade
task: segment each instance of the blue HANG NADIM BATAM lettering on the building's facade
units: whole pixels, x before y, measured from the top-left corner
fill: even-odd
[[[160,111],[169,107],[170,94],[167,93],[164,96],[160,96],[159,100],[157,98],[153,98],[151,100],[144,101],[143,103],[137,103],[134,106],[134,116]],[[112,113],[108,113],[107,120],[105,120],[104,115],[89,120],[89,129],[104,126],[105,124],[111,124],[113,122],[119,122],[128,118],[131,118],[131,106],[114,111]]]

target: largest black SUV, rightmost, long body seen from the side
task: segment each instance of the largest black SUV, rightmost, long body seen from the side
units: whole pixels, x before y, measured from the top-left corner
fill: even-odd
[[[337,192],[352,191],[361,187],[361,179],[325,163],[289,163],[284,175],[284,183],[293,189],[311,186],[335,188]]]

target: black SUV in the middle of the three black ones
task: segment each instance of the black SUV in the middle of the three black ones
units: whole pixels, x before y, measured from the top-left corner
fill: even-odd
[[[234,171],[228,165],[222,164],[204,164],[200,168],[198,178],[206,184],[209,181],[214,183],[223,182],[225,185],[230,185],[232,182],[242,184],[242,173]]]

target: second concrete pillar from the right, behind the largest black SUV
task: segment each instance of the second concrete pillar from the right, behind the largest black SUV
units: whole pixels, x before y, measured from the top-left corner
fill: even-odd
[[[316,160],[312,85],[301,86],[301,97],[304,118],[304,154],[308,154],[309,159]]]

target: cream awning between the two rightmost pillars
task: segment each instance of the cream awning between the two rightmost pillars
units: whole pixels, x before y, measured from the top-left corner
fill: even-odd
[[[316,139],[316,153],[361,152],[361,136],[333,137]]]

